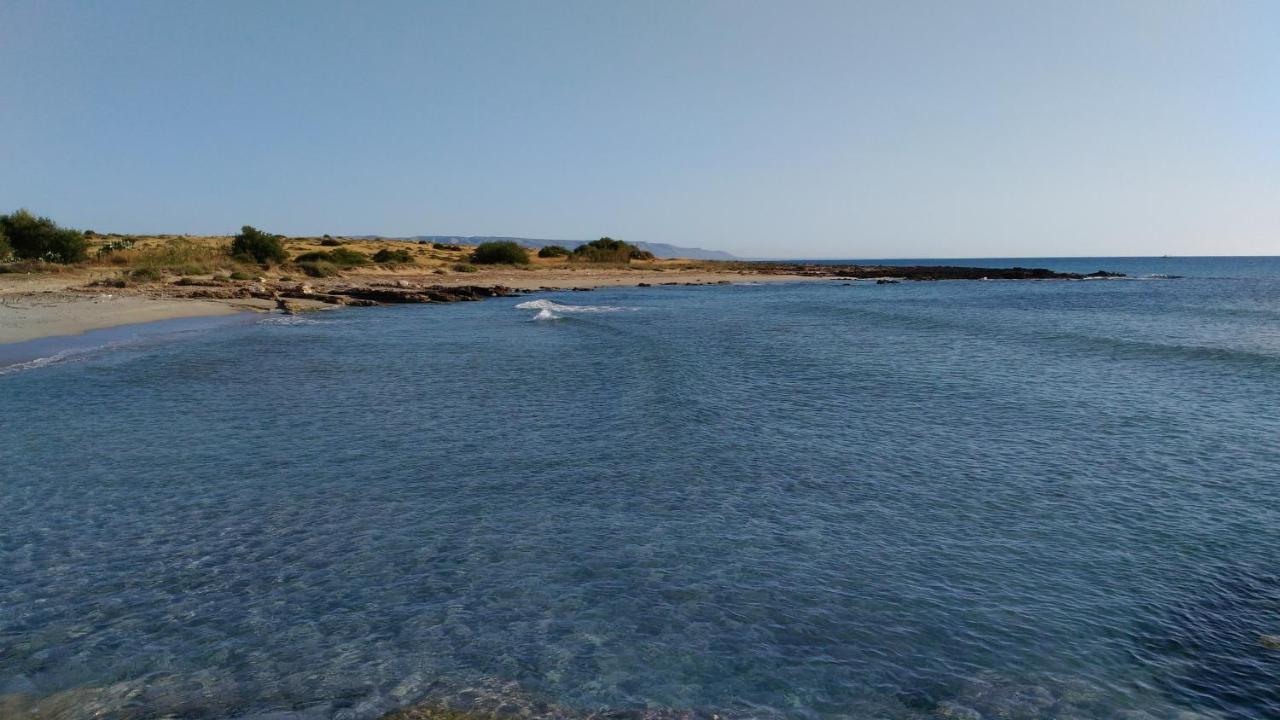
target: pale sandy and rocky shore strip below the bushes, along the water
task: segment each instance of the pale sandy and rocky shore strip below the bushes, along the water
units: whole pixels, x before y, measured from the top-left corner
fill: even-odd
[[[407,270],[407,272],[406,272]],[[365,268],[330,278],[266,273],[250,279],[216,274],[164,275],[127,282],[118,272],[86,268],[65,273],[0,274],[0,347],[86,332],[237,313],[287,314],[338,306],[438,304],[605,287],[707,286],[741,282],[938,279],[1082,279],[1116,277],[1027,268],[946,265],[814,265],[803,263],[658,261],[644,266],[494,265],[467,273],[439,268]]]

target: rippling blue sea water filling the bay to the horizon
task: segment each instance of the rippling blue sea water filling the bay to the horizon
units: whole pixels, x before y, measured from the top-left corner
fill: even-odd
[[[620,288],[24,357],[0,698],[1280,716],[1280,260],[973,263],[1184,277]]]

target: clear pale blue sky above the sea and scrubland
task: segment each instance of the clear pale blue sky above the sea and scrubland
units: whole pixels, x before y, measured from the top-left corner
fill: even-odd
[[[1280,254],[1280,3],[0,3],[0,206],[745,256]]]

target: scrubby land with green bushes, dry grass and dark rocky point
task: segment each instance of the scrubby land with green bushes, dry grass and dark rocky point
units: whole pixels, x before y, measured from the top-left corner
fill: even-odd
[[[186,297],[221,297],[242,291],[265,292],[262,288],[278,287],[276,283],[284,282],[298,283],[303,277],[344,278],[344,284],[348,286],[424,281],[529,284],[529,279],[513,279],[513,270],[530,270],[532,274],[545,272],[548,286],[564,282],[590,284],[605,274],[613,275],[611,283],[632,282],[616,273],[635,273],[631,277],[641,286],[680,284],[687,281],[675,274],[686,272],[722,274],[724,278],[731,274],[777,274],[845,281],[883,279],[884,283],[893,278],[932,281],[1083,277],[1036,268],[906,268],[655,259],[635,245],[612,237],[602,237],[572,251],[554,245],[529,251],[512,241],[468,246],[378,237],[285,237],[252,225],[244,225],[236,236],[115,232],[95,232],[91,236],[63,228],[49,218],[36,217],[26,210],[0,217],[0,273],[60,274],[64,278],[78,275],[83,278],[79,281],[82,287],[138,288],[148,293],[175,293],[173,288],[180,287],[177,292]],[[658,273],[668,275],[658,282],[654,279]],[[562,277],[550,279],[553,274]],[[442,275],[457,277],[451,281],[442,279]],[[575,275],[582,279],[579,281]],[[1107,273],[1093,275],[1106,277]],[[74,281],[68,279],[70,282]],[[324,284],[329,283],[316,283],[312,290]]]

